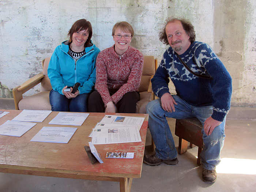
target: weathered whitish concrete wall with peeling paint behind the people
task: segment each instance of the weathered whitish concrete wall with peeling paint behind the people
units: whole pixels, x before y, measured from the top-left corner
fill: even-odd
[[[132,46],[160,60],[167,48],[158,33],[168,16],[195,26],[197,41],[208,43],[233,78],[233,106],[256,107],[255,0],[20,0],[0,1],[0,97],[42,71],[72,23],[81,18],[93,26],[93,42],[103,50],[113,45],[112,27],[131,23]],[[174,90],[170,85],[172,91]],[[25,95],[40,91],[36,86]]]

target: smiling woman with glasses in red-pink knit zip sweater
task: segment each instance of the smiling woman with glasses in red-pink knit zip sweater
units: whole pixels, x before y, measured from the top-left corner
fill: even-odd
[[[114,25],[112,36],[115,44],[97,57],[96,91],[89,97],[89,112],[136,113],[143,54],[129,46],[133,34],[132,26],[127,22]]]

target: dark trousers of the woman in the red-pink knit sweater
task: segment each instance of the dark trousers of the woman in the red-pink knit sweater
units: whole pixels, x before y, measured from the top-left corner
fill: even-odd
[[[116,107],[118,113],[136,113],[136,103],[140,100],[138,91],[125,93],[117,103]],[[101,95],[98,91],[93,91],[88,99],[88,111],[105,113],[105,104],[102,101]]]

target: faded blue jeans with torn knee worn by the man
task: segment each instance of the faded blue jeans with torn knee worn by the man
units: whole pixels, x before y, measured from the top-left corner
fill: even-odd
[[[172,95],[177,105],[175,112],[166,112],[161,106],[161,100],[156,99],[148,103],[146,112],[149,114],[148,127],[155,143],[155,155],[159,159],[174,159],[177,157],[172,133],[167,123],[166,117],[176,119],[198,118],[204,126],[204,121],[213,113],[212,106],[195,107],[189,105],[177,95]],[[215,127],[211,135],[206,135],[204,129],[203,142],[204,148],[201,156],[202,165],[205,169],[214,170],[221,161],[220,153],[224,144],[225,138],[225,120]]]

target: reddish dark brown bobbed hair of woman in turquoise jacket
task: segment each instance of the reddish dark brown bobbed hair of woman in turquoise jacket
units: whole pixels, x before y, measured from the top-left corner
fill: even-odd
[[[68,37],[69,37],[68,42],[72,43],[73,33],[75,33],[76,31],[82,31],[82,30],[88,30],[88,33],[89,33],[88,39],[84,43],[84,48],[86,48],[91,41],[91,36],[93,36],[93,28],[91,27],[91,23],[86,19],[79,19],[72,25],[71,29],[69,29],[68,31]]]

